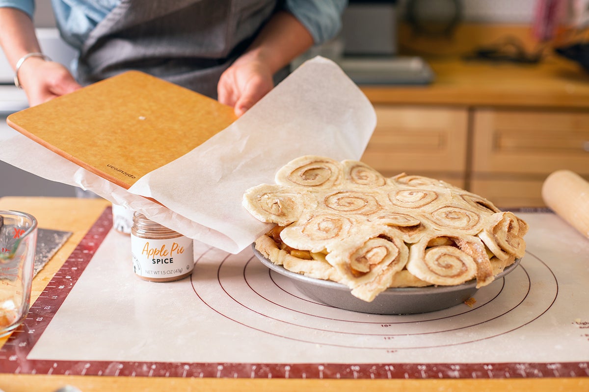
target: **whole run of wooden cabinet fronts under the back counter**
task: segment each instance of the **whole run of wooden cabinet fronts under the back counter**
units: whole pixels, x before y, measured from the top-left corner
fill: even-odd
[[[378,123],[362,160],[385,176],[434,177],[504,208],[542,207],[546,177],[589,179],[584,110],[375,105]]]

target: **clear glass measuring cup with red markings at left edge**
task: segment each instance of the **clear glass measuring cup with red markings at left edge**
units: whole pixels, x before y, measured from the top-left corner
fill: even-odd
[[[0,337],[27,317],[37,247],[37,219],[0,210]]]

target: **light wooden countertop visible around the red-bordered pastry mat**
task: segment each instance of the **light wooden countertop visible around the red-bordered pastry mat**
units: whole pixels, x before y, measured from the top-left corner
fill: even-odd
[[[35,277],[33,282],[33,300],[43,292],[48,282],[58,272],[78,243],[92,227],[94,222],[104,215],[108,203],[101,199],[68,199],[44,197],[3,197],[0,209],[23,210],[36,216],[39,227],[72,232],[72,236],[55,254],[50,262]],[[31,312],[34,314],[34,311]],[[114,333],[116,333],[114,331]],[[0,340],[0,345],[6,339]],[[92,341],[88,341],[92,344]],[[229,365],[229,364],[226,364]],[[550,368],[550,367],[549,367]],[[6,392],[52,392],[66,384],[76,386],[83,392],[121,390],[121,391],[160,391],[160,390],[277,390],[277,391],[358,391],[358,390],[416,390],[416,391],[462,391],[485,390],[504,391],[570,391],[587,390],[588,377],[548,377],[548,378],[501,378],[457,380],[334,380],[334,379],[250,379],[250,378],[182,378],[182,377],[111,377],[111,376],[51,376],[34,374],[0,374],[0,388]]]

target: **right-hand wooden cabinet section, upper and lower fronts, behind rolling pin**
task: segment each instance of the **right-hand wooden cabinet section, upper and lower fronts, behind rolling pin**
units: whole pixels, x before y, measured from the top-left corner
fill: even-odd
[[[589,113],[475,109],[470,190],[503,207],[544,206],[542,183],[559,169],[589,177]]]

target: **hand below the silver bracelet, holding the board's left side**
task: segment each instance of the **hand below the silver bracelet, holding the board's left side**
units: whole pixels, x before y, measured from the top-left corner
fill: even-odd
[[[31,57],[23,63],[18,71],[18,80],[27,93],[30,106],[81,88],[63,65],[36,57]]]

